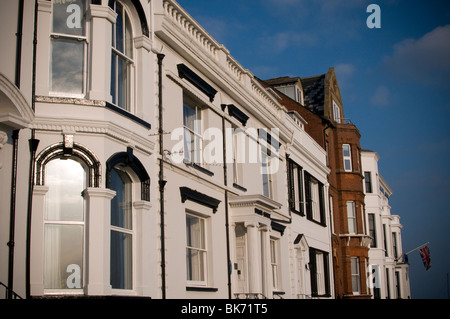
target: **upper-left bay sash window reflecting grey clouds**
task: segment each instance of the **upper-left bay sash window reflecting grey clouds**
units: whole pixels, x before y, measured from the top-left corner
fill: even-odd
[[[82,97],[86,93],[86,0],[53,1],[50,91]]]

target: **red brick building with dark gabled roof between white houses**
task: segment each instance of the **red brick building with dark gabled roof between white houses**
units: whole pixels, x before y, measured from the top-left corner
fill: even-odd
[[[281,103],[288,110],[306,120],[306,132],[327,150],[336,298],[370,298],[370,237],[364,220],[361,135],[345,117],[334,68],[318,76],[264,82],[280,93]]]

